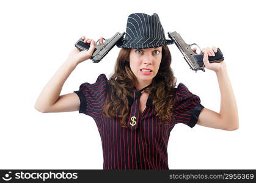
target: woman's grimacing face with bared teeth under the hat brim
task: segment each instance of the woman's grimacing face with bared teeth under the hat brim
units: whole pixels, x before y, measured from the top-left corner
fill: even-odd
[[[162,59],[162,46],[158,48],[131,49],[129,59],[130,68],[137,80],[139,82],[151,82],[159,70]]]

